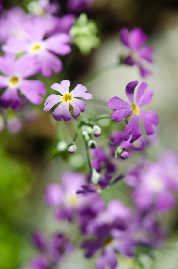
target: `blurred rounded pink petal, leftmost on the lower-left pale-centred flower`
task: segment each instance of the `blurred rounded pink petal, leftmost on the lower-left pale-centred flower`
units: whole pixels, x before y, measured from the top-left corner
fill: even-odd
[[[63,190],[57,183],[50,183],[45,190],[45,201],[49,206],[58,206],[63,201]]]

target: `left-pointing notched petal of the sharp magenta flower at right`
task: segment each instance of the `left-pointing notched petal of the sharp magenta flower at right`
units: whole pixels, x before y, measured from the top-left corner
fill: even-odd
[[[113,121],[123,121],[125,117],[134,112],[131,104],[123,101],[117,96],[112,97],[107,102],[107,107],[117,109],[116,111],[111,113],[111,119]]]

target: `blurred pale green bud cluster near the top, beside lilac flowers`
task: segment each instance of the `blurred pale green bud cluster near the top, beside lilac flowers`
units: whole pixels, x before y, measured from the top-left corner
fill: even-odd
[[[97,37],[98,28],[95,22],[88,20],[85,13],[80,14],[71,27],[69,34],[73,37],[73,43],[83,54],[91,52],[92,48],[98,47],[100,39]]]

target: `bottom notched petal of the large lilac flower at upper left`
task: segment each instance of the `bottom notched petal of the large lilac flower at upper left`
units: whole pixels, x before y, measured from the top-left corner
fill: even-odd
[[[52,77],[53,71],[59,73],[62,70],[63,64],[61,60],[50,51],[43,51],[38,55],[41,64],[41,73],[45,77]]]

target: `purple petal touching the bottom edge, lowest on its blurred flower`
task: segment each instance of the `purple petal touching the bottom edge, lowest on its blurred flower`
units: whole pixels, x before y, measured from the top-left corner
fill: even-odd
[[[96,260],[96,269],[114,269],[117,266],[117,259],[113,249],[105,248],[104,253]]]

